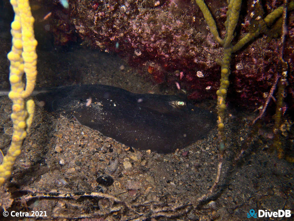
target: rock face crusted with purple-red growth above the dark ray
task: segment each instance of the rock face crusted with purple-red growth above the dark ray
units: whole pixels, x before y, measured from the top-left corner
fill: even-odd
[[[236,39],[254,29],[253,14],[265,17],[283,1],[263,2],[263,11],[244,2]],[[193,1],[70,1],[70,22],[89,45],[115,51],[155,82],[186,89],[192,99],[216,98],[222,47],[216,43]],[[206,1],[223,37],[227,1]],[[247,5],[246,5],[247,4]],[[252,14],[253,13],[253,14]],[[294,100],[294,15],[288,14],[284,59],[289,63],[288,106]],[[227,100],[256,108],[264,102],[275,73],[280,73],[280,40],[260,35],[233,55]],[[180,75],[179,73],[182,72]],[[201,72],[201,75],[197,75]],[[200,76],[200,77],[199,77]],[[287,99],[286,99],[287,100]]]

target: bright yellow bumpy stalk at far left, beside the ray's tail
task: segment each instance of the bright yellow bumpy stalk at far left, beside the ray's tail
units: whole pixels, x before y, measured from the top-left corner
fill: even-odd
[[[10,177],[16,157],[21,153],[21,145],[26,137],[34,115],[34,101],[27,98],[34,90],[37,75],[37,41],[34,37],[34,18],[28,0],[11,0],[15,13],[11,23],[12,47],[7,54],[10,61],[9,81],[12,100],[13,135],[11,145],[0,165],[0,186]],[[26,73],[26,84],[22,76]]]

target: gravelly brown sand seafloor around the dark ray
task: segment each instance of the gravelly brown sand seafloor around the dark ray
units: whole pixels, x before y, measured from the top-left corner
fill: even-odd
[[[0,87],[8,88],[6,55],[11,39],[7,23],[1,24]],[[37,51],[37,87],[98,83],[137,93],[177,93],[176,88],[153,84],[147,74],[138,74],[115,54],[78,44],[64,48],[39,44],[43,45]],[[214,103],[198,105],[215,111]],[[0,104],[0,145],[6,154],[12,135],[11,101],[0,97]],[[46,211],[47,217],[38,220],[89,221],[255,220],[246,218],[250,209],[290,209],[294,213],[294,167],[293,163],[278,159],[275,151],[269,151],[272,122],[262,125],[263,136],[254,134],[252,142],[245,145],[245,154],[234,163],[256,112],[237,111],[231,105],[228,114],[227,150],[220,183],[212,197],[196,207],[196,199],[208,191],[216,177],[216,127],[205,139],[189,147],[158,154],[129,148],[74,119],[47,113],[37,106],[31,132],[7,183],[14,199],[7,210]],[[293,129],[287,133],[283,144],[293,152]],[[114,182],[108,186],[110,177]],[[0,217],[37,220],[4,218],[2,210]],[[287,219],[258,220],[293,220],[293,215]]]

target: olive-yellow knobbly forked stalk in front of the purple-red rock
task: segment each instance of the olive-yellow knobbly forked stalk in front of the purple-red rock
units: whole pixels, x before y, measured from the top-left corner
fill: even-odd
[[[203,13],[203,16],[206,20],[206,23],[209,26],[209,29],[211,30],[211,33],[215,37],[216,41],[223,45],[224,54],[223,59],[216,59],[216,62],[221,66],[221,78],[220,78],[220,88],[217,90],[216,94],[218,96],[217,100],[217,109],[218,109],[218,135],[220,137],[220,151],[222,152],[225,148],[225,136],[224,136],[224,119],[225,119],[225,98],[227,95],[228,86],[230,84],[229,82],[229,75],[230,75],[230,61],[232,57],[232,53],[238,51],[241,49],[245,44],[247,44],[249,41],[257,37],[260,33],[262,33],[264,30],[262,27],[258,26],[256,30],[252,33],[246,34],[242,39],[240,39],[235,45],[232,45],[231,42],[234,38],[234,30],[237,25],[240,9],[241,9],[241,0],[230,0],[228,5],[228,11],[226,13],[227,20],[225,21],[225,38],[221,39],[216,23],[213,19],[213,16],[211,15],[210,11],[208,10],[208,7],[206,6],[204,0],[195,0],[197,5],[199,6],[200,10]],[[264,18],[264,26],[265,28],[267,26],[270,26],[273,24],[273,22],[278,19],[283,13],[284,6],[280,6],[277,9],[275,9],[273,12],[268,14]],[[294,9],[294,1],[289,2],[288,4],[288,11]]]

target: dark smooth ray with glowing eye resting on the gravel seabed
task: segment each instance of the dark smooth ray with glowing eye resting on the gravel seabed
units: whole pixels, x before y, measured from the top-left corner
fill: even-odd
[[[173,152],[203,138],[216,115],[171,95],[135,94],[107,85],[74,85],[36,95],[49,112],[138,149]]]

